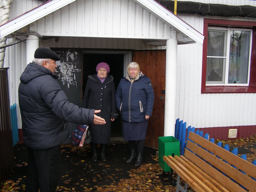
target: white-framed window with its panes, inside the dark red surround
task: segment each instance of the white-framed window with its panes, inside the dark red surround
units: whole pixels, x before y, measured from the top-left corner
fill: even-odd
[[[206,84],[248,84],[251,30],[208,28]]]

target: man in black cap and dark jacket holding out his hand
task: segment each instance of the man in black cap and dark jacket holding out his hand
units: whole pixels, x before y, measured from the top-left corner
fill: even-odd
[[[54,74],[60,57],[38,48],[20,76],[19,105],[23,137],[28,147],[26,191],[55,191],[59,180],[60,144],[68,138],[67,123],[105,124],[100,110],[70,103]]]

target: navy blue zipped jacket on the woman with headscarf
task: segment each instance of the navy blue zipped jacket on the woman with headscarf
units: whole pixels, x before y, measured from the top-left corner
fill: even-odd
[[[126,122],[146,121],[145,116],[152,115],[154,99],[151,81],[142,72],[132,83],[129,76],[122,78],[116,90],[116,106]]]

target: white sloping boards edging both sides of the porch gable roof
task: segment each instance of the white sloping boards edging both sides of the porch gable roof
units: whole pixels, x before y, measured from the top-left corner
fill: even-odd
[[[10,20],[9,22],[0,26],[0,37],[7,36],[20,28],[39,20],[40,18],[74,2],[76,0],[49,0],[36,8],[25,12],[24,14]],[[140,5],[142,8],[160,18],[171,28],[182,34],[190,37],[198,44],[203,44],[204,36],[196,29],[188,25],[185,21],[174,15],[171,11],[166,9],[163,5],[155,0],[133,0],[134,3]]]

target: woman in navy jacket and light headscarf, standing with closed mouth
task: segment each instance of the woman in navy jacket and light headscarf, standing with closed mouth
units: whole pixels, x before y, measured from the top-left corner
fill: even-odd
[[[116,105],[121,112],[124,140],[128,140],[131,149],[126,163],[135,161],[134,166],[139,167],[155,97],[151,81],[140,71],[138,63],[131,62],[127,70],[128,75],[116,90]]]

